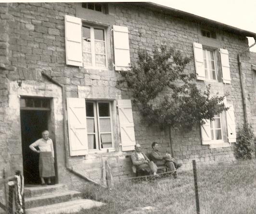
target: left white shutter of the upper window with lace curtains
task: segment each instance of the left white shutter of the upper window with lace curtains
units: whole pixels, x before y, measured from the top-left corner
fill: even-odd
[[[81,19],[65,15],[66,64],[83,66]]]

